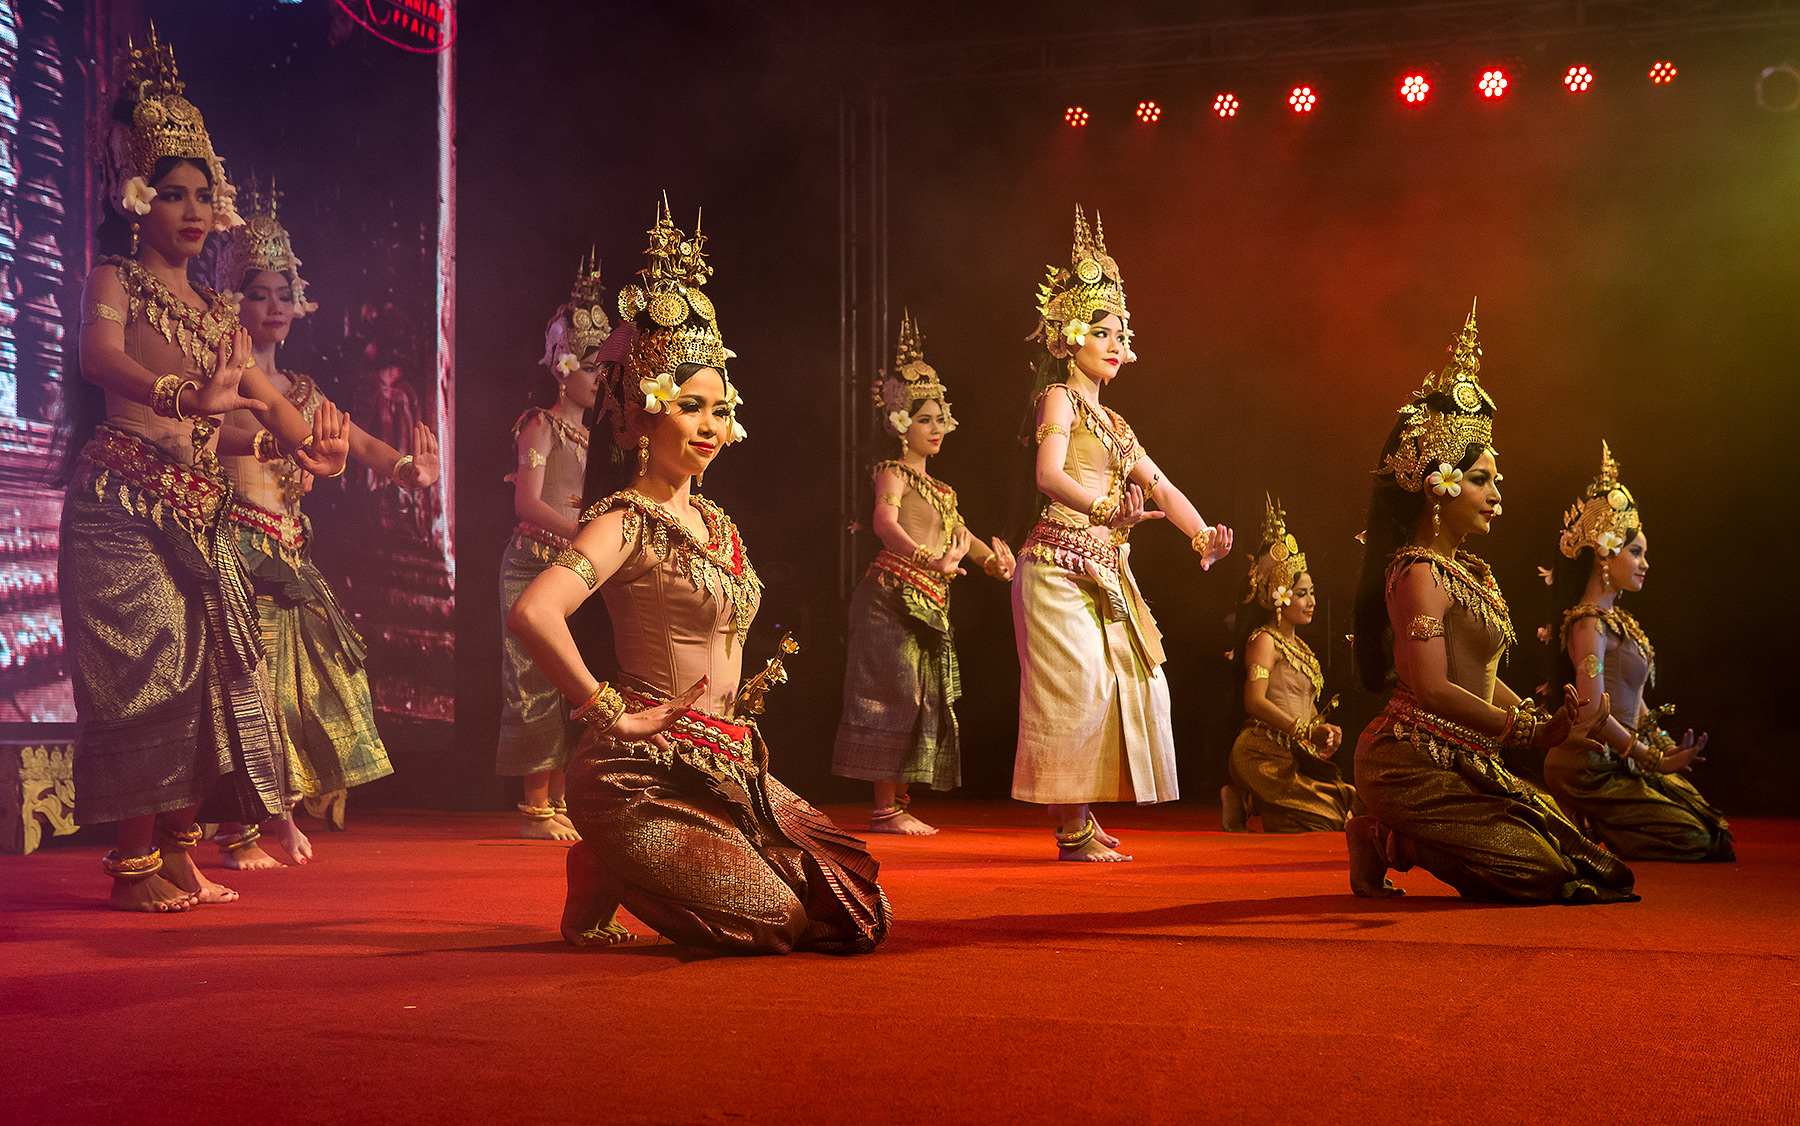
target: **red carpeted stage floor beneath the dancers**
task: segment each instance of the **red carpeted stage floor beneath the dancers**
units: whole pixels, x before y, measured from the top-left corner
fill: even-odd
[[[1359,901],[1343,840],[920,802],[875,838],[873,955],[556,937],[562,847],[502,815],[355,815],[245,899],[104,910],[92,847],[0,856],[7,1122],[1793,1122],[1800,822],[1643,903]],[[841,820],[855,809],[832,809]]]

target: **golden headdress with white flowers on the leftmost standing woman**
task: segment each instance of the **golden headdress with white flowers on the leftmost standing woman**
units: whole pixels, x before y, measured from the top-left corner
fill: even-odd
[[[108,178],[113,205],[121,212],[146,214],[155,192],[149,178],[164,156],[200,160],[212,176],[212,228],[243,225],[232,198],[238,191],[225,178],[225,162],[212,151],[212,139],[200,110],[184,97],[187,90],[175,68],[175,54],[149,29],[149,41],[139,49],[126,41],[119,52],[119,92],[131,106],[131,124],[108,119],[95,140],[101,171]],[[95,130],[99,131],[99,130]]]

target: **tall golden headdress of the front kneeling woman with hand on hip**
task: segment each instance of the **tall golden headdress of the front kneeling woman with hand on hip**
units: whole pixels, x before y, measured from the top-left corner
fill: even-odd
[[[682,234],[670,219],[670,203],[657,205],[657,221],[650,228],[650,246],[644,257],[650,264],[637,272],[643,284],[619,290],[619,315],[635,320],[650,313],[655,327],[643,331],[632,342],[626,362],[628,374],[637,380],[675,378],[682,363],[700,363],[725,371],[731,349],[718,335],[718,317],[713,300],[700,291],[713,268],[706,264],[706,236],[695,216],[693,237]]]

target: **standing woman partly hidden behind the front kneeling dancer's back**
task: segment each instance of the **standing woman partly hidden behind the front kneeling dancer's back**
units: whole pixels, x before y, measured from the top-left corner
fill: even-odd
[[[513,511],[518,527],[500,558],[500,750],[497,770],[522,775],[518,835],[536,840],[580,840],[567,815],[563,768],[574,754],[580,725],[569,719],[556,685],[531,660],[526,646],[504,630],[513,603],[574,541],[587,475],[587,421],[594,407],[599,345],[612,335],[601,308],[599,263],[592,254],[576,270],[569,302],[544,331],[540,363],[556,376],[556,405],[533,407],[513,423],[518,468],[513,469]]]

